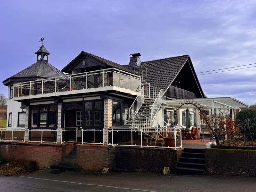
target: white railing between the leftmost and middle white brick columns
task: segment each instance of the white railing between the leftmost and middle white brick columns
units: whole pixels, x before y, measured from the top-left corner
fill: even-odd
[[[57,143],[57,129],[55,129],[55,130],[46,130],[46,129],[28,130],[28,142]]]

